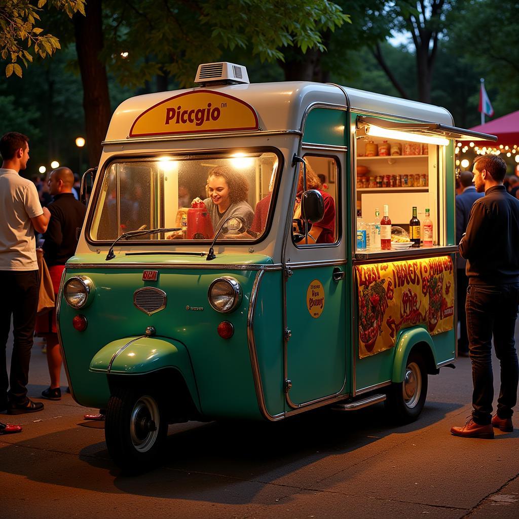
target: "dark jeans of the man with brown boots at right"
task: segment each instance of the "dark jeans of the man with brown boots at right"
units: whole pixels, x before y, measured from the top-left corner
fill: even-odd
[[[519,366],[514,328],[519,305],[519,284],[469,285],[467,290],[467,331],[472,361],[472,418],[476,424],[490,423],[494,400],[492,336],[501,366],[501,388],[497,401],[500,418],[512,416],[517,401]]]

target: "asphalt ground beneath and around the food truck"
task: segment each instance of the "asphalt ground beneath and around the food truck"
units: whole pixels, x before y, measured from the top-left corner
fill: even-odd
[[[114,466],[103,422],[83,420],[97,409],[64,392],[63,374],[61,401],[0,415],[23,425],[0,436],[0,517],[519,517],[519,414],[494,440],[452,436],[471,413],[470,360],[456,366],[429,377],[414,424],[395,427],[383,404],[278,424],[190,422],[170,426],[160,468],[136,477]],[[497,399],[495,358],[494,373]],[[35,346],[30,397],[48,381]]]

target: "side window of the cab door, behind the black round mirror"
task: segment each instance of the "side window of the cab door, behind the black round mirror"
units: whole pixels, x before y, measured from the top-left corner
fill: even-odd
[[[292,236],[296,245],[304,246],[337,243],[339,239],[338,179],[339,166],[335,157],[305,155],[306,189],[317,189],[324,201],[324,216],[320,222],[310,224],[308,229],[302,220],[301,195],[303,186],[302,166],[299,168],[296,203],[292,221]]]

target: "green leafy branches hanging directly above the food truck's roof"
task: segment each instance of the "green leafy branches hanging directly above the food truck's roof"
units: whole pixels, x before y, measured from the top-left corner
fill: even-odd
[[[105,5],[112,16],[104,59],[131,87],[156,74],[192,85],[196,66],[220,59],[224,51],[244,50],[263,63],[282,61],[286,47],[325,50],[322,32],[350,21],[327,0],[141,0],[136,5],[107,0]]]

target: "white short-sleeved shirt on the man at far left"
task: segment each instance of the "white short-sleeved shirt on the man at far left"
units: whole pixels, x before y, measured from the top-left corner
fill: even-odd
[[[0,270],[38,270],[31,218],[40,214],[34,183],[0,168]]]

